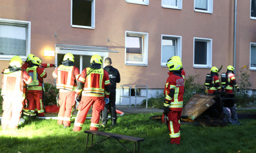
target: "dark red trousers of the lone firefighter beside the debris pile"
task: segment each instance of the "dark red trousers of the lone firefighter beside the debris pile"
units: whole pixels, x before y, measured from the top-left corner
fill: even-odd
[[[180,117],[182,111],[171,111],[168,114],[169,124],[168,129],[170,131],[170,143],[180,144]]]

